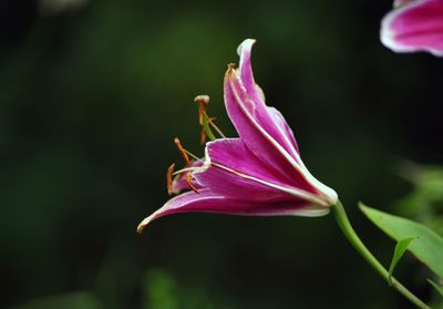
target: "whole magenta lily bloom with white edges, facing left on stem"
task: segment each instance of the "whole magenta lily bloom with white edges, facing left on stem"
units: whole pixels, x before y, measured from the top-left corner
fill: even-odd
[[[302,163],[284,116],[265,104],[253,75],[254,43],[248,39],[239,45],[239,69],[230,64],[225,75],[225,105],[239,137],[206,143],[202,164],[185,168],[193,190],[169,199],[138,225],[138,231],[158,217],[177,213],[315,217],[328,214],[337,203],[337,193]],[[182,177],[173,187],[183,184]]]

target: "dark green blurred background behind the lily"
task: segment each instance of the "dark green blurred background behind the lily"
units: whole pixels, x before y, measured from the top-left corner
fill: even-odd
[[[305,163],[389,265],[357,208],[443,226],[443,62],[379,42],[391,1],[0,2],[0,308],[411,308],[332,216],[183,214],[165,172],[195,154],[197,94],[229,135],[226,64],[254,69]],[[418,164],[419,163],[419,164]],[[410,255],[398,277],[426,301]]]

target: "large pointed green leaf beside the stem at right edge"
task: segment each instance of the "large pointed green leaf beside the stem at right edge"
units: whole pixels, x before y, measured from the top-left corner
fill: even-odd
[[[443,278],[443,238],[440,235],[420,223],[370,208],[361,203],[359,207],[374,225],[396,241],[408,237],[415,238],[408,250]]]

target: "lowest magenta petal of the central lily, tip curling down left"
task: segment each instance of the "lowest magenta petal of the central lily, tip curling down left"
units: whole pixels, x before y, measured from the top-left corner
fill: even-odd
[[[281,200],[277,203],[260,203],[225,197],[202,189],[199,194],[187,192],[169,199],[163,207],[146,217],[137,227],[141,233],[152,220],[172,214],[204,212],[223,213],[245,216],[322,216],[328,208],[309,209],[306,202]]]

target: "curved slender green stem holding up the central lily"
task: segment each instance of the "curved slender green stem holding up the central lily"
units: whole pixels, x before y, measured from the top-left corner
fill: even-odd
[[[380,261],[371,254],[371,251],[364,246],[356,230],[352,228],[349,222],[348,215],[344,212],[343,205],[340,200],[332,206],[332,213],[339,224],[344,236],[348,238],[349,243],[356,248],[356,250],[375,269],[377,272],[388,282],[390,282],[389,271],[380,264]],[[414,296],[410,290],[408,290],[402,284],[400,284],[395,278],[391,277],[392,287],[396,289],[401,295],[408,298],[412,303],[422,309],[430,309],[430,307],[421,301],[416,296]]]

